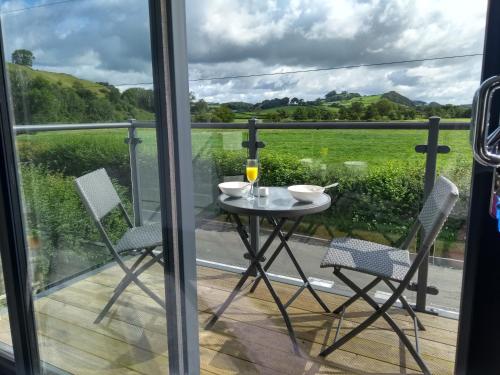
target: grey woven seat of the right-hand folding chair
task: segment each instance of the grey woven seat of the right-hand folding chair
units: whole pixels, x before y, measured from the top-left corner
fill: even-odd
[[[410,268],[410,253],[387,245],[354,238],[335,238],[321,268],[343,267],[401,281]]]

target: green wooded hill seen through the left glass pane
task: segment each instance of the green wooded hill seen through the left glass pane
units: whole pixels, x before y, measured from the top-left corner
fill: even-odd
[[[7,64],[16,123],[85,123],[154,118],[153,92]]]

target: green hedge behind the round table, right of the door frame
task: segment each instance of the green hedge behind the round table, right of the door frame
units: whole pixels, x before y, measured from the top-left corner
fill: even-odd
[[[203,156],[211,161],[217,179],[242,175],[246,154],[242,151],[217,151]],[[324,168],[321,164],[303,163],[291,154],[266,151],[260,157],[262,186],[287,186],[292,184],[326,185],[339,182],[336,189],[328,191],[334,202],[323,214],[305,218],[303,230],[314,222],[326,224],[325,234],[360,235],[366,239],[383,240],[398,245],[407,234],[422,205],[424,165],[418,162],[388,162],[384,166],[356,171],[345,167]],[[452,180],[467,179],[466,168],[447,173]],[[466,200],[464,194],[461,198]],[[462,202],[463,203],[463,202]],[[216,208],[215,208],[216,209]],[[439,252],[448,250],[456,241],[465,224],[465,216],[450,218],[440,234],[444,241]],[[356,233],[355,233],[356,232]],[[368,233],[371,232],[371,233]],[[310,233],[307,233],[310,234]]]

